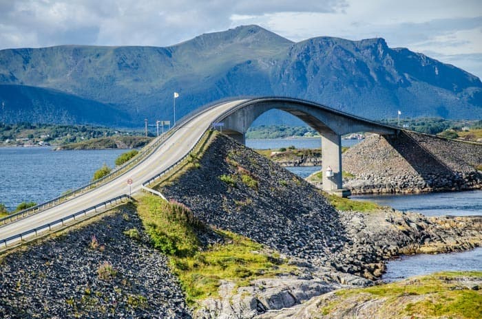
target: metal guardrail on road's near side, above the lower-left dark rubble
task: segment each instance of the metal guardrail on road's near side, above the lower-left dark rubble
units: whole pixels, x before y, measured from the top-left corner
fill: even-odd
[[[10,236],[6,239],[0,240],[0,249],[8,248],[10,243],[17,243],[18,241],[23,241],[24,239],[35,238],[41,234],[45,234],[46,232],[52,231],[52,229],[58,229],[63,227],[65,224],[68,224],[73,221],[77,221],[78,217],[87,217],[87,214],[92,214],[92,212],[98,212],[99,209],[107,209],[107,205],[109,208],[116,206],[118,203],[123,203],[125,199],[129,199],[129,195],[121,195],[118,197],[114,197],[113,199],[109,199],[108,201],[103,201],[102,203],[98,203],[97,205],[91,206],[85,210],[80,210],[75,212],[74,214],[70,214],[69,216],[63,217],[61,219],[57,219],[56,221],[52,221],[50,223],[45,223],[36,228],[32,228],[21,234],[16,234],[14,236]]]

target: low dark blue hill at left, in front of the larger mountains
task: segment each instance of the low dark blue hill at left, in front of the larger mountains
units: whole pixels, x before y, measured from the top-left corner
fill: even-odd
[[[0,85],[1,122],[129,126],[130,115],[114,107],[52,89]],[[5,119],[5,121],[4,121]]]

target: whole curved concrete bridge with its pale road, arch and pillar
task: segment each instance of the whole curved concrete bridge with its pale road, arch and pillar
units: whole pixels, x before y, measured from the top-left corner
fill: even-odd
[[[333,177],[324,176],[324,189],[329,192],[342,192],[341,135],[358,131],[369,131],[384,135],[397,134],[396,127],[359,118],[314,102],[293,98],[266,97],[249,100],[233,99],[198,109],[178,122],[155,151],[147,155],[139,164],[116,175],[105,184],[93,190],[77,194],[67,201],[53,207],[43,208],[35,214],[12,221],[0,227],[0,241],[18,240],[25,234],[48,223],[54,223],[70,215],[91,208],[99,203],[108,202],[129,192],[127,179],[132,179],[132,192],[142,189],[145,181],[163,173],[189,154],[202,135],[213,124],[223,122],[223,132],[244,143],[244,133],[251,123],[270,109],[281,109],[304,120],[322,135],[324,166],[331,166]],[[42,204],[40,205],[42,206]],[[45,206],[45,205],[44,205]],[[46,207],[46,206],[45,206]],[[16,237],[17,236],[17,237]]]

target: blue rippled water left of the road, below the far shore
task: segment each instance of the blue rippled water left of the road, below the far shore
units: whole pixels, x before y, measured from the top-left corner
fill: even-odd
[[[114,167],[127,150],[52,151],[48,147],[0,147],[0,203],[42,203],[90,182],[104,163]]]

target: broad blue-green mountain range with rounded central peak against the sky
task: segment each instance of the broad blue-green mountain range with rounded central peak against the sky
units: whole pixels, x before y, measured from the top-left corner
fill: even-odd
[[[219,98],[260,95],[306,98],[374,119],[395,117],[397,110],[410,117],[482,118],[481,80],[462,69],[392,49],[384,39],[293,43],[256,25],[171,47],[1,50],[1,83],[98,101],[127,113],[133,126],[144,118],[172,120],[174,91],[180,93],[177,118]],[[287,121],[280,112],[270,118]]]

